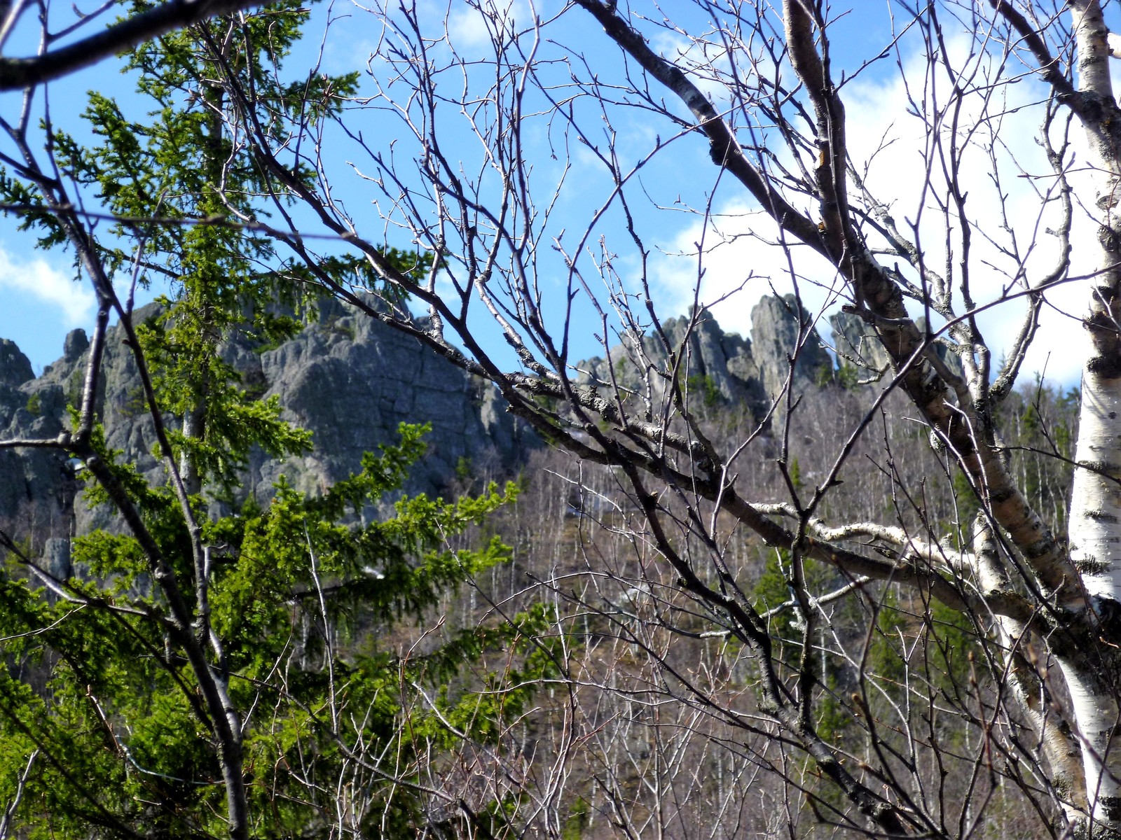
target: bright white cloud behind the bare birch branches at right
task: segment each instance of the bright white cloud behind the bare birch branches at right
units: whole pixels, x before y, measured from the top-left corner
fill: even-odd
[[[984,73],[995,74],[997,59],[970,59],[967,48],[969,40],[963,36],[951,44],[949,52],[962,64],[974,62],[979,82]],[[948,93],[948,84],[945,77],[932,82],[925,56],[907,57],[904,72],[910,83],[910,94],[920,103],[924,97],[935,94],[945,102],[943,97]],[[1000,299],[1009,287],[1015,290],[1017,277],[1023,272],[1030,281],[1038,281],[1058,255],[1058,241],[1047,228],[1057,224],[1059,206],[1057,202],[1045,200],[1055,179],[1037,143],[1043,120],[1043,110],[1037,103],[1046,97],[1046,91],[1040,82],[1029,78],[1000,88],[999,95],[1001,101],[990,102],[988,110],[980,95],[967,97],[958,114],[960,125],[982,127],[982,136],[972,137],[974,143],[963,156],[960,175],[960,183],[967,192],[965,214],[972,223],[973,234],[970,287],[979,305]],[[905,233],[914,237],[914,228],[917,228],[929,267],[944,273],[947,270],[947,217],[939,203],[946,200],[946,184],[937,156],[924,158],[930,137],[924,121],[908,112],[907,85],[898,77],[861,80],[845,86],[844,99],[849,149],[858,169],[863,169],[867,162],[865,180],[870,192],[890,203],[891,213]],[[995,151],[1001,177],[999,185],[993,181],[992,159],[979,142],[989,130],[986,125],[991,125],[999,138]],[[964,137],[963,132],[960,137]],[[1076,158],[1084,161],[1076,125],[1071,139]],[[926,159],[934,162],[929,177]],[[780,155],[780,160],[790,164],[793,159],[786,153]],[[1028,175],[1031,177],[1026,177]],[[1092,200],[1087,204],[1093,207]],[[1075,212],[1077,215],[1078,209]],[[1094,268],[1093,256],[1087,260],[1086,254],[1096,252],[1093,246],[1095,226],[1085,211],[1075,223],[1072,274],[1090,273]],[[956,288],[961,281],[957,264],[962,251],[961,224],[951,214],[948,225],[952,240],[948,264],[955,278],[955,308],[961,312],[962,295]],[[1013,250],[1013,237],[1019,261],[1009,253]],[[844,284],[823,259],[805,246],[788,251],[777,248],[772,244],[776,239],[775,223],[749,199],[725,199],[708,218],[694,221],[666,244],[665,255],[655,261],[652,272],[659,297],[675,311],[684,310],[693,301],[698,278],[697,244],[703,243],[704,278],[700,299],[712,304],[728,296],[713,307],[726,329],[749,333],[751,309],[760,297],[770,293],[771,288],[785,293],[797,284],[804,301],[817,311],[843,302]],[[889,264],[893,261],[886,259]],[[1076,281],[1059,287],[1048,293],[1047,299],[1049,306],[1043,312],[1041,327],[1026,368],[1040,371],[1046,367],[1049,380],[1073,383],[1077,381],[1084,358],[1085,337],[1080,318],[1088,301],[1087,283]],[[989,342],[994,364],[1011,346],[1025,310],[1025,301],[1020,298],[1001,302],[979,316],[979,326]],[[920,314],[918,307],[912,308],[912,314]]]

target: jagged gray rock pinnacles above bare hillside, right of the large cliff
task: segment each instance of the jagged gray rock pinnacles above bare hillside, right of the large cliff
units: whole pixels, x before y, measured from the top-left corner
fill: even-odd
[[[691,399],[729,405],[744,405],[759,418],[766,413],[782,390],[790,371],[789,360],[796,356],[796,386],[817,383],[833,373],[833,358],[824,348],[817,332],[809,328],[798,346],[798,318],[794,296],[766,297],[751,311],[752,340],[734,333],[724,333],[707,312],[703,312],[689,329],[687,317],[663,323],[666,339],[674,351],[680,349],[687,362],[686,377]],[[669,381],[668,354],[661,339],[646,335],[613,347],[611,360],[591,358],[580,363],[584,384],[610,386],[612,382],[645,394],[647,381],[654,396],[665,393]]]

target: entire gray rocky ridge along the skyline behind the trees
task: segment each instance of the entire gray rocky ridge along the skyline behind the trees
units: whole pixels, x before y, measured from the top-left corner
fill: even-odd
[[[152,307],[138,310],[136,320],[155,315]],[[752,310],[751,340],[724,333],[704,314],[692,329],[686,317],[668,319],[663,328],[671,347],[685,348],[687,375],[700,377],[693,382],[703,383],[707,398],[741,404],[761,418],[788,375],[796,388],[835,375],[833,356],[813,328],[795,354],[797,312],[793,296],[763,298]],[[867,371],[886,361],[882,347],[855,316],[834,316],[832,326],[841,353]],[[611,364],[604,358],[580,363],[583,382],[638,388],[639,364],[665,366],[668,356],[660,338],[648,334],[631,345],[613,348]],[[0,339],[0,439],[53,438],[62,431],[67,405],[76,403],[81,393],[87,348],[85,333],[72,332],[63,356],[36,377],[19,348]],[[415,467],[408,492],[439,493],[457,474],[498,477],[512,472],[540,445],[531,430],[504,411],[490,383],[333,300],[322,301],[317,318],[290,340],[263,352],[234,342],[225,356],[240,372],[242,386],[263,396],[277,395],[285,417],[311,430],[314,440],[313,451],[284,463],[256,452],[241,498],[252,495],[266,502],[281,475],[304,492],[330,486],[358,469],[363,452],[393,441],[402,421],[433,426],[428,455]],[[146,478],[161,483],[164,467],[151,456],[151,418],[119,328],[109,332],[101,375],[99,412],[110,448],[121,450]],[[81,501],[75,466],[49,449],[0,450],[0,528],[17,538],[34,535],[34,542],[48,552],[52,540],[112,528],[106,511],[90,510]],[[216,513],[225,503],[213,504]]]

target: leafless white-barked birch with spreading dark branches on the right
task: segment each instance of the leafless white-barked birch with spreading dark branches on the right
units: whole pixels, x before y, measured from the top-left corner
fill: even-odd
[[[713,702],[745,730],[775,727],[836,785],[864,828],[967,833],[976,814],[967,816],[966,809],[948,818],[944,803],[933,804],[939,797],[929,796],[916,769],[921,746],[910,753],[881,749],[870,722],[873,749],[853,760],[823,737],[815,709],[826,687],[815,650],[827,646],[821,637],[831,623],[810,563],[837,569],[850,592],[860,581],[890,581],[910,592],[911,604],[936,601],[969,616],[978,657],[998,687],[997,694],[979,693],[973,701],[985,734],[978,769],[994,772],[1000,760],[992,750],[1000,741],[1003,760],[1031,766],[1020,778],[1051,809],[1056,831],[1121,829],[1121,753],[1113,739],[1121,642],[1114,571],[1121,534],[1121,122],[1101,7],[899,6],[888,39],[855,60],[851,45],[833,37],[844,26],[840,10],[799,0],[787,0],[781,10],[698,3],[675,11],[677,20],[665,9],[599,0],[578,0],[555,20],[535,10],[519,19],[518,10],[491,4],[475,11],[483,34],[463,53],[456,53],[455,32],[418,7],[374,12],[373,94],[343,118],[354,166],[377,190],[379,225],[404,231],[441,256],[427,283],[410,282],[385,263],[373,246],[381,228],[371,233],[364,214],[352,216],[335,200],[322,160],[305,161],[324,172],[319,184],[299,181],[291,175],[290,142],[281,146],[261,125],[239,127],[286,195],[363,251],[383,280],[429,307],[424,323],[401,309],[369,309],[371,316],[491,379],[543,435],[619,470],[643,515],[642,533],[673,569],[675,586],[692,609],[750,654],[758,669],[756,713],[768,725],[740,718],[735,701]],[[572,31],[559,29],[565,25],[586,32],[584,43],[565,44],[559,34],[554,39],[554,31]],[[909,66],[916,54],[923,59],[917,73]],[[877,183],[877,149],[855,150],[847,139],[853,80],[889,71],[884,65],[892,58],[910,114],[900,120],[917,120],[923,129],[909,162],[923,172],[921,188],[910,206]],[[1040,125],[1043,155],[1031,159],[1019,157],[1003,133],[1018,130],[1009,119],[1018,106],[1010,104],[1013,83],[1037,92],[1026,104]],[[250,95],[235,91],[232,99]],[[393,134],[393,143],[381,144],[362,130],[369,116]],[[627,127],[638,121],[652,137],[636,152]],[[327,137],[308,140],[317,141],[321,155],[336,153]],[[697,147],[707,151],[706,161],[698,160]],[[547,164],[545,150],[568,165]],[[670,157],[671,166],[661,162]],[[980,185],[966,178],[978,157],[1000,198],[994,209],[971,199]],[[606,187],[573,237],[555,220],[569,195],[565,178],[587,177],[585,167],[595,167]],[[666,190],[659,183],[649,187],[652,194],[643,193],[643,169],[682,178],[683,185]],[[1010,177],[1035,186],[1035,230],[1022,230],[1018,215],[1013,220]],[[680,375],[689,363],[685,346],[668,343],[651,302],[657,254],[647,244],[650,205],[668,212],[673,202],[659,195],[688,192],[705,179],[706,198],[689,204],[696,200],[689,192],[682,206],[707,217],[719,209],[717,190],[738,194],[753,214],[745,234],[758,240],[756,248],[778,250],[782,256],[772,264],[786,260],[795,282],[816,279],[832,289],[874,333],[890,362],[881,386],[865,392],[869,405],[849,432],[813,442],[833,456],[812,488],[799,487],[790,474],[802,446],[787,433],[799,394],[789,388],[771,394],[776,410],[765,422],[778,432],[785,500],[753,498],[742,489],[738,473],[751,468],[749,452],[761,446],[765,426],[717,446]],[[289,218],[294,228],[284,237],[314,271],[316,255]],[[1093,235],[1078,239],[1085,226]],[[1045,248],[1044,237],[1057,248]],[[710,251],[697,243],[698,283]],[[813,259],[830,273],[807,268]],[[556,296],[545,288],[547,280],[567,291]],[[1017,482],[998,419],[1038,340],[1048,296],[1074,295],[1088,306],[1083,323],[1091,351],[1064,539]],[[1002,351],[983,332],[984,312],[998,307],[1020,318]],[[944,326],[932,335],[919,315]],[[515,367],[481,340],[481,317],[499,326],[517,354]],[[589,324],[603,339],[610,370],[628,362],[641,373],[638,386],[621,376],[590,382],[580,375],[569,338]],[[623,338],[621,351],[613,349],[612,330]],[[626,340],[647,333],[665,343],[659,358]],[[947,364],[939,344],[960,364]],[[828,500],[842,492],[849,458],[873,433],[895,392],[906,396],[911,421],[926,427],[930,445],[947,454],[954,474],[980,500],[975,521],[961,523],[966,533],[960,540],[943,540],[941,525],[923,521],[921,489],[914,486],[900,488],[912,500],[911,511],[891,511],[886,519],[872,516],[882,511],[869,512],[867,522],[827,521]],[[800,653],[787,665],[751,592],[730,571],[729,536],[739,530],[789,552],[782,575],[798,615]],[[666,615],[663,620],[673,624]],[[860,674],[863,662],[850,665]],[[684,674],[678,680],[682,691],[703,696]],[[929,683],[907,681],[904,697],[925,698],[932,710],[938,706]],[[842,700],[854,718],[868,711],[864,702],[860,692]],[[1025,724],[1034,736],[1008,735]],[[918,738],[914,731],[909,737]],[[901,769],[908,767],[910,778]]]

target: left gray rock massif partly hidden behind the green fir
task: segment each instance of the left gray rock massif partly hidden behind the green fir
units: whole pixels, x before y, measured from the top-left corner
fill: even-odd
[[[157,312],[140,309],[135,321]],[[122,451],[149,480],[166,480],[151,450],[155,426],[123,332],[109,332],[98,409],[106,442]],[[0,342],[0,437],[53,438],[63,430],[67,404],[77,402],[85,376],[89,340],[82,330],[66,337],[64,355],[35,379],[27,357]],[[241,373],[241,385],[279,396],[285,418],[313,433],[314,449],[285,463],[254,451],[240,497],[265,503],[281,475],[300,491],[315,493],[361,466],[362,454],[397,440],[401,422],[430,422],[428,454],[411,473],[409,493],[438,494],[469,467],[473,477],[498,477],[537,438],[508,414],[495,390],[469,376],[415,339],[335,301],[319,305],[316,323],[263,353],[232,343],[225,358]],[[168,419],[174,424],[174,419]],[[87,508],[74,467],[48,449],[0,450],[0,528],[37,542],[94,528],[117,528],[113,514]],[[226,505],[214,503],[215,512]]]

